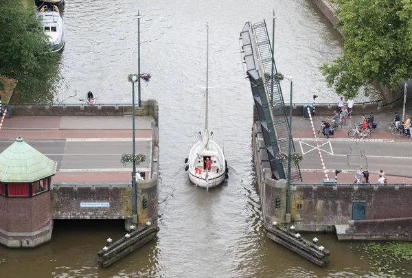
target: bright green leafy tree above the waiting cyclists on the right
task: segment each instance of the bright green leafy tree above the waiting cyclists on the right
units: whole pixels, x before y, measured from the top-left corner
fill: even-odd
[[[328,86],[354,97],[378,82],[394,89],[412,77],[412,0],[335,0],[343,56],[320,67]]]

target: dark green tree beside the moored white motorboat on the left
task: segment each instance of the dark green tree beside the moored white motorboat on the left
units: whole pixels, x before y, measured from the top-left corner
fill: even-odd
[[[59,55],[52,53],[34,8],[0,0],[0,75],[16,80],[21,102],[50,102],[60,80]]]

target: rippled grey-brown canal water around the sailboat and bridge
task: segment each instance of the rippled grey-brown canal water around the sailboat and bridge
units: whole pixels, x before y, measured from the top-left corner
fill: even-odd
[[[0,277],[382,277],[362,244],[316,235],[330,250],[319,268],[269,240],[262,227],[251,150],[253,100],[244,79],[239,33],[246,21],[275,8],[277,69],[294,80],[294,102],[334,102],[319,65],[341,54],[339,36],[310,0],[66,1],[65,80],[57,100],[130,103],[128,73],[137,73],[137,10],[141,14],[142,99],[159,101],[160,186],[157,240],[113,266],[97,265],[106,238],[124,235],[122,221],[56,221],[52,242],[30,250],[0,247]],[[203,128],[206,22],[209,23],[209,130],[222,142],[229,180],[206,192],[194,187],[183,162]],[[289,91],[284,80],[282,88]],[[288,93],[285,94],[288,100]],[[307,235],[312,238],[315,235]],[[394,266],[395,267],[395,266]],[[409,267],[409,269],[408,269]],[[396,268],[409,264],[396,262]],[[400,277],[407,277],[402,273]]]

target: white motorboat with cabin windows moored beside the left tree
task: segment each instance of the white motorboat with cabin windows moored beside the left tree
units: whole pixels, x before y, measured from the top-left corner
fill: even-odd
[[[38,12],[37,18],[41,19],[43,31],[49,36],[52,51],[60,51],[65,46],[65,25],[57,6],[48,8],[47,5],[44,5]]]

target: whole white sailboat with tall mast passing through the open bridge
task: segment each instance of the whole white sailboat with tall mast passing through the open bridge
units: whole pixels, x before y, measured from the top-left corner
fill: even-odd
[[[207,27],[207,47],[206,47],[206,94],[205,94],[205,130],[203,135],[199,132],[199,140],[190,148],[189,157],[185,159],[185,170],[188,170],[192,183],[199,187],[210,187],[220,185],[225,178],[228,178],[227,162],[225,154],[220,146],[211,139],[213,132],[207,128],[207,106],[209,102],[209,25]]]

